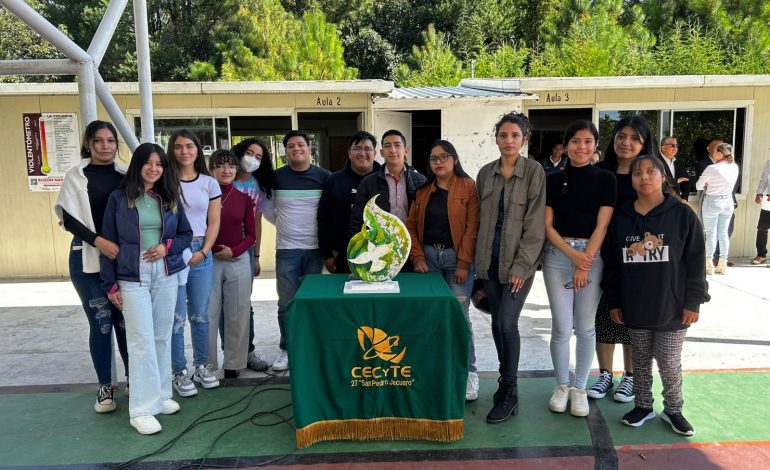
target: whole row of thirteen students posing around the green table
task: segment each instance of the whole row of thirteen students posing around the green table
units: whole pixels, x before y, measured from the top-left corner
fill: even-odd
[[[488,422],[505,421],[518,409],[518,320],[542,265],[556,375],[549,408],[586,416],[588,397],[601,398],[613,387],[614,345],[630,344],[615,396],[634,400],[635,407],[623,422],[640,426],[655,416],[655,358],[663,379],[661,417],[692,435],[682,415],[681,349],[708,298],[703,229],[670,192],[643,118],[618,122],[599,165],[592,164],[598,142],[592,123],[577,121],[565,134],[567,162],[546,176],[539,163],[521,156],[529,137],[526,116],[504,115],[494,128],[499,158],[474,182],[446,140],[431,146],[427,178],[406,165],[406,138],[397,130],[381,139],[381,165],[374,161],[374,136],[351,137],[345,168],[333,174],[310,163],[309,139],[299,131],[287,134],[288,165],[277,171],[255,139],[217,150],[206,162],[200,142],[185,130],[171,136],[168,154],[155,144],[140,145],[126,171],[115,162],[115,129],[91,123],[83,160],[67,173],[56,209],[73,233],[70,274],[91,325],[100,383],[96,411],[115,409],[113,329],[126,373],[131,370],[130,423],[141,433],[160,431],[154,416],[179,409],[172,388],[190,396],[197,393],[195,383],[219,385],[213,374],[217,332],[225,378],[247,365],[268,367],[253,352],[253,311],[249,318],[263,213],[277,230],[281,354],[272,367],[287,369],[282,320],[299,278],[324,266],[347,270],[347,240],[360,230],[366,201],[380,194],[377,204],[401,218],[412,237],[405,269],[440,273],[469,323],[473,282],[483,281],[500,364]],[[185,319],[192,375],[184,355]],[[587,390],[594,349],[601,375]],[[473,338],[468,362],[466,399],[474,400]]]

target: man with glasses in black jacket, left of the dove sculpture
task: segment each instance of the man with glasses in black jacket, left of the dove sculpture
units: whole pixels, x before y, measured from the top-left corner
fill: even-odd
[[[347,263],[350,209],[361,180],[380,168],[374,161],[376,150],[377,139],[372,134],[356,132],[348,142],[345,167],[332,173],[324,183],[318,203],[318,247],[330,273],[350,272]]]

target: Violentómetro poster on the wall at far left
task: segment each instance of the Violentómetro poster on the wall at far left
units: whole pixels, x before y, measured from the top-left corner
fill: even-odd
[[[30,191],[58,191],[80,162],[77,113],[23,115],[24,158]]]

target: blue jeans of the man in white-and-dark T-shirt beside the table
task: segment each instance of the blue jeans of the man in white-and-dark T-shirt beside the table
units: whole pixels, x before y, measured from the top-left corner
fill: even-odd
[[[278,291],[278,346],[286,350],[286,307],[299,289],[299,279],[306,274],[321,274],[323,257],[318,248],[312,250],[275,250],[275,283]]]

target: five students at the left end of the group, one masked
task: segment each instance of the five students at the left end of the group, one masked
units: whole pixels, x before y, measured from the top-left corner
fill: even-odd
[[[90,123],[82,160],[67,172],[55,209],[73,234],[70,277],[90,324],[99,380],[94,408],[116,408],[114,331],[127,394],[131,371],[130,424],[153,434],[161,430],[155,415],[180,408],[172,390],[187,397],[198,393],[195,383],[219,386],[213,373],[218,332],[226,378],[247,364],[268,367],[250,341],[249,298],[260,269],[260,209],[272,197],[273,172],[267,147],[256,139],[217,150],[207,161],[200,141],[186,129],[171,135],[167,151],[139,145],[127,169],[115,160],[117,150],[114,126]],[[184,349],[186,320],[192,374]]]

